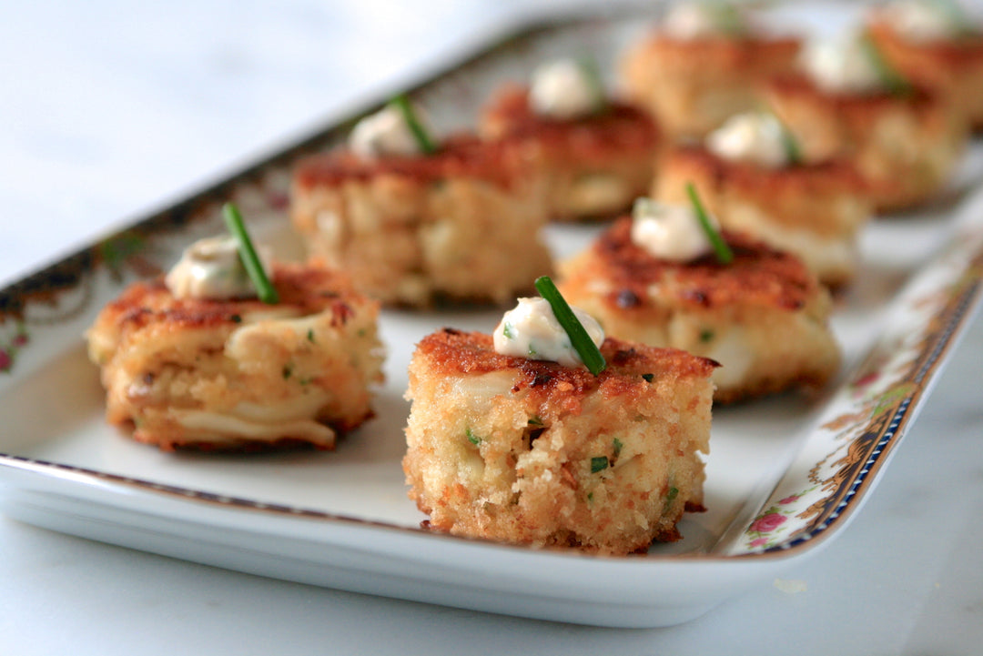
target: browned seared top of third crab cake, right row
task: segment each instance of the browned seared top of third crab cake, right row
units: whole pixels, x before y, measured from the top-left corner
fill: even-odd
[[[767,197],[769,191],[793,192],[807,197],[815,191],[861,193],[866,183],[846,159],[794,164],[777,168],[753,162],[730,161],[701,145],[675,146],[665,155],[665,167],[685,167],[699,173],[720,191],[724,184],[753,189]]]

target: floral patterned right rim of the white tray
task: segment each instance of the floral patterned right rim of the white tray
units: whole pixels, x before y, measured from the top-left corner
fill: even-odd
[[[908,410],[951,348],[954,330],[978,300],[983,230],[964,239],[924,277],[927,282],[901,295],[892,328],[829,404],[816,429],[819,438],[810,440],[813,449],[799,458],[814,486],[790,492],[788,486],[801,485],[802,479],[786,475],[788,480],[779,482],[745,529],[735,553],[788,549],[819,536],[852,508],[849,500],[873,479],[881,457],[910,418]],[[966,248],[966,243],[974,246]],[[816,450],[824,448],[825,455]]]

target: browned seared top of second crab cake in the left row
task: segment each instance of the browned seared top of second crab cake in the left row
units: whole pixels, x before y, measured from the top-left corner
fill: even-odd
[[[525,155],[512,141],[486,142],[458,135],[442,141],[433,155],[363,158],[347,149],[313,155],[297,165],[294,184],[308,189],[389,175],[422,183],[478,178],[508,186],[524,165]]]

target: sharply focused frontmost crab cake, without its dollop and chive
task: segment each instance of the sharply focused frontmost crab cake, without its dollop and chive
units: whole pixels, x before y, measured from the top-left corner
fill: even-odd
[[[709,360],[607,339],[607,369],[498,354],[444,329],[417,347],[403,460],[430,526],[629,554],[703,510]]]

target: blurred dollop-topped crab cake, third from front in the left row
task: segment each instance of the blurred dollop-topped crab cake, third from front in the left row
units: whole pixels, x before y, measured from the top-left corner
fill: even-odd
[[[502,88],[486,108],[483,137],[528,143],[538,154],[554,220],[611,218],[648,191],[659,131],[648,113],[608,100],[586,64],[550,62],[529,88]]]

